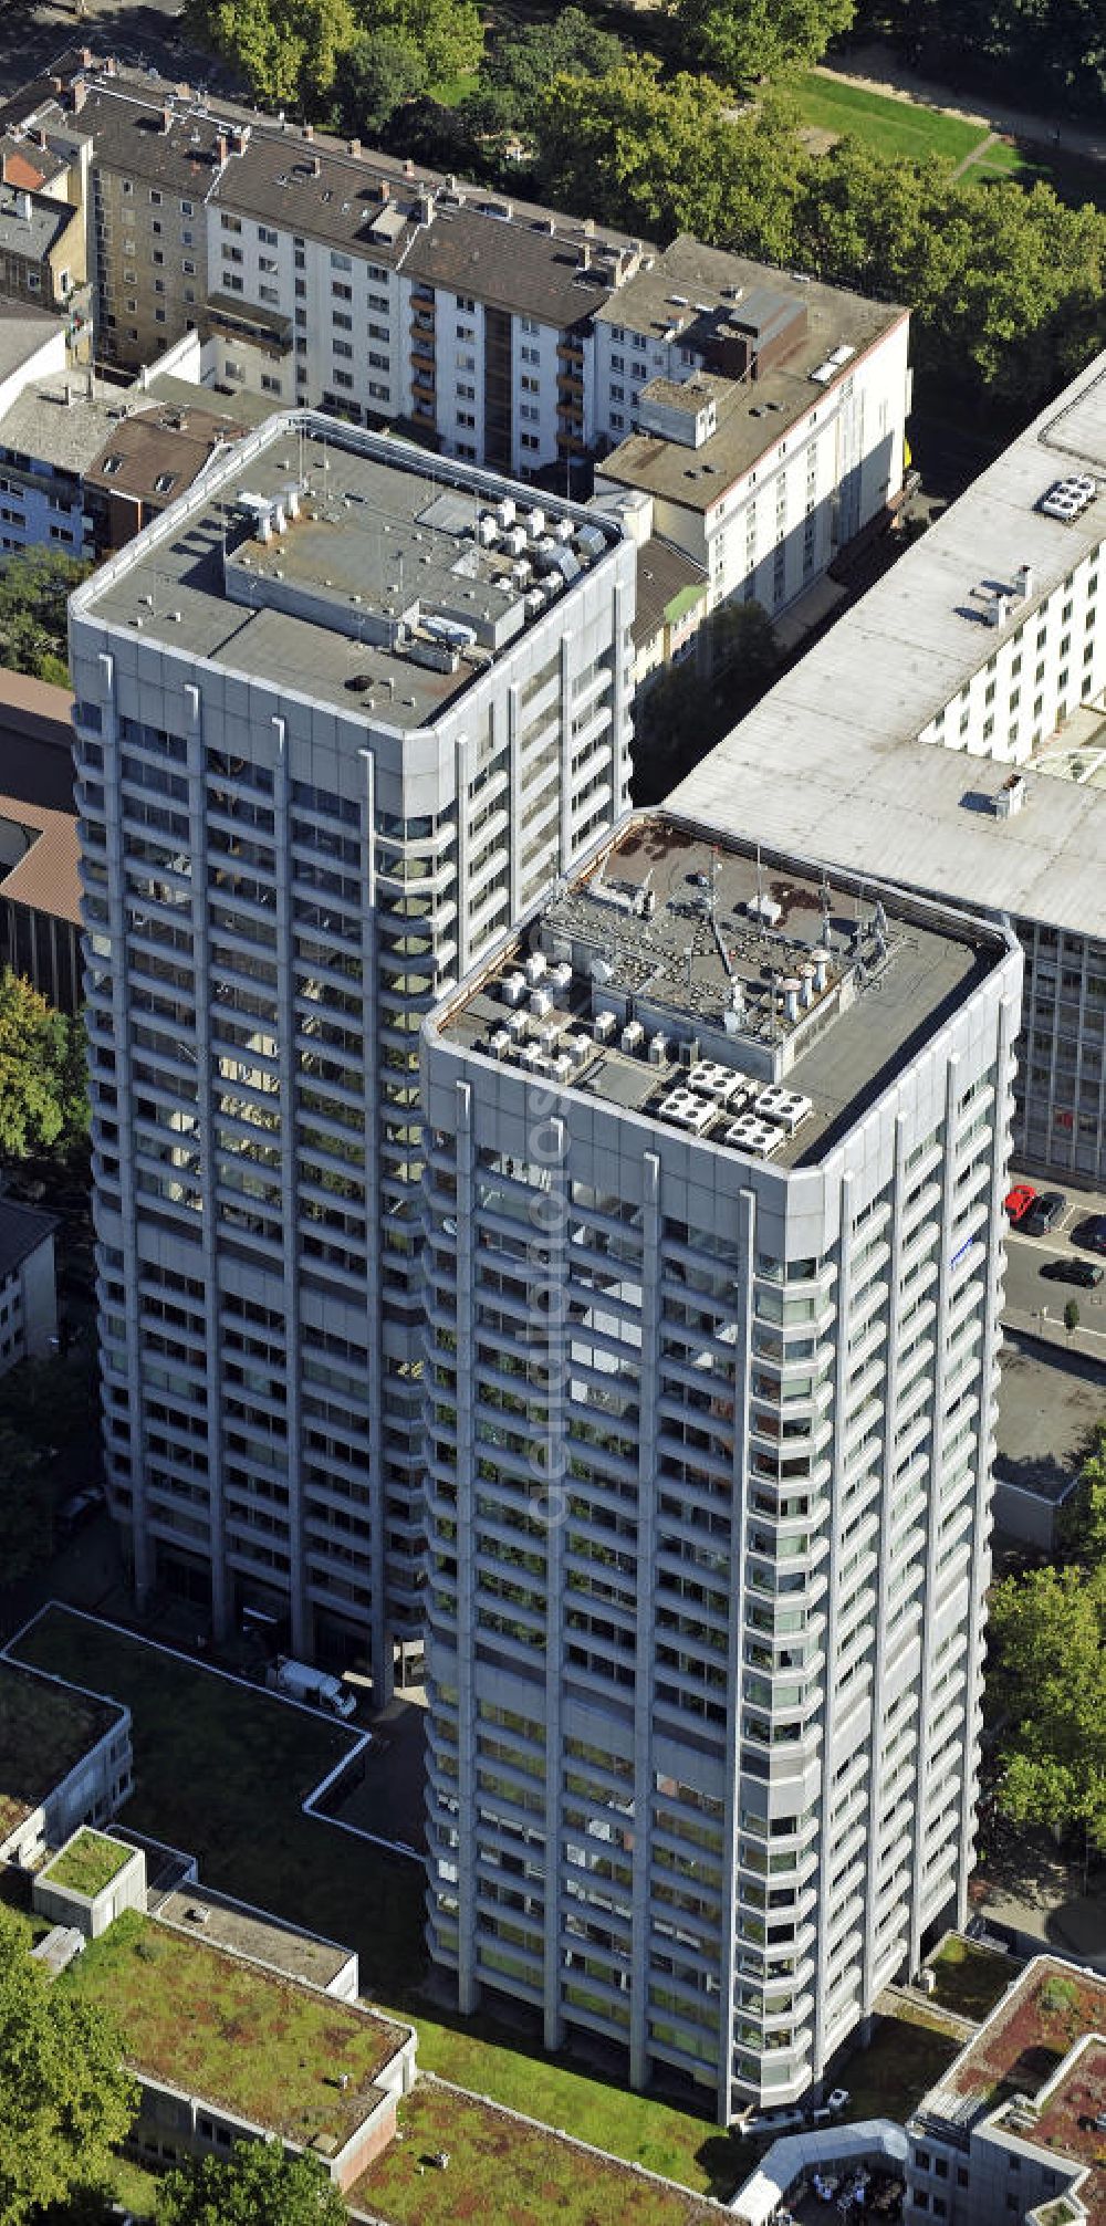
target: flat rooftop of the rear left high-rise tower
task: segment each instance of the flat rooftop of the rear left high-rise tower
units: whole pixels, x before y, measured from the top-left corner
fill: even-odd
[[[409,730],[619,539],[579,503],[296,412],[214,463],[73,610]]]

